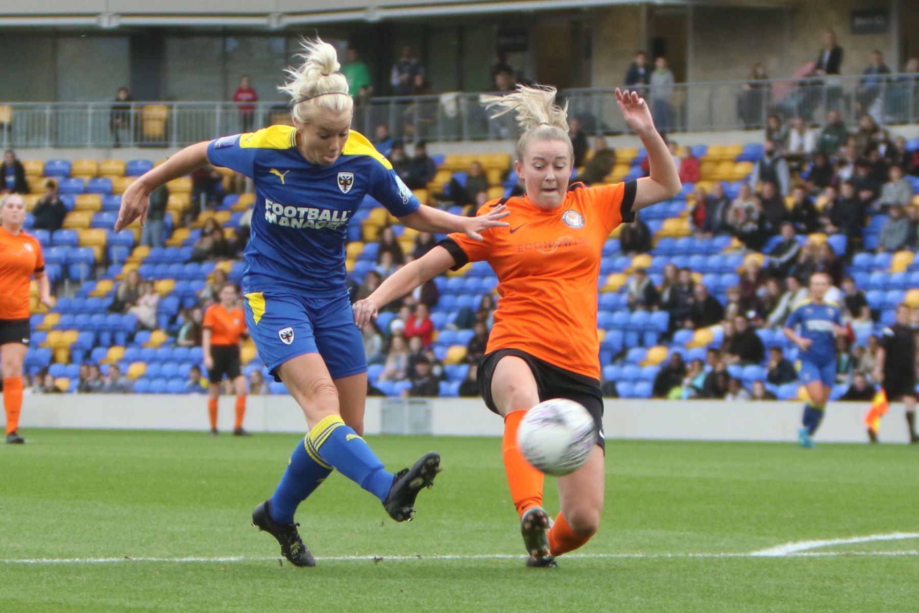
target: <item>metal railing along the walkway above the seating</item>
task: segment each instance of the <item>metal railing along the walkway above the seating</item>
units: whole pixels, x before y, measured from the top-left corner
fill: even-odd
[[[569,115],[588,133],[628,131],[615,88],[569,89]],[[763,128],[766,118],[803,117],[823,124],[838,110],[855,127],[867,113],[881,125],[919,120],[919,74],[832,76],[823,79],[678,84],[640,89],[662,131],[732,131]],[[386,125],[405,140],[483,141],[511,138],[510,118],[488,119],[479,94],[371,98],[356,105],[354,127],[368,136]],[[227,102],[7,103],[0,105],[0,141],[6,147],[178,147],[226,134],[289,122],[288,108]]]

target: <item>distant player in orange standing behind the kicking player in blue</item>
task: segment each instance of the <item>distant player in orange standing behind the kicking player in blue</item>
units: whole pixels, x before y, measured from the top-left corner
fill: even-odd
[[[245,416],[245,377],[240,361],[240,339],[245,331],[245,315],[239,306],[239,291],[235,283],[224,283],[219,294],[220,302],[212,304],[204,313],[201,332],[201,349],[204,366],[208,369],[208,417],[210,436],[217,434],[217,400],[221,395],[223,375],[233,381],[236,392],[236,421],[233,434],[248,437],[243,429]]]

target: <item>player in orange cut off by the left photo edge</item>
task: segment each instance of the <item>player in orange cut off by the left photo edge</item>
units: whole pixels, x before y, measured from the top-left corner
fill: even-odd
[[[45,275],[41,245],[22,230],[26,205],[18,194],[0,200],[0,369],[3,370],[3,406],[6,442],[24,443],[19,436],[22,409],[22,363],[30,336],[28,325],[29,278],[39,282],[40,301],[51,306],[51,289]]]

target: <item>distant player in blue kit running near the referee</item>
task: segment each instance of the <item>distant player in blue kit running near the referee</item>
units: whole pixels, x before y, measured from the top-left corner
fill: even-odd
[[[798,443],[801,447],[816,447],[813,434],[823,421],[826,401],[836,374],[836,336],[845,335],[843,311],[835,302],[824,302],[830,289],[830,277],[822,272],[811,275],[811,297],[796,305],[785,323],[783,332],[800,347],[800,380],[811,400],[804,405]],[[798,329],[796,331],[796,328]]]

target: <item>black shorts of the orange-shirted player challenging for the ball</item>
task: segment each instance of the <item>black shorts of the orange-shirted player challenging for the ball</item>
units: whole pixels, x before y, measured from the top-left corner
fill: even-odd
[[[559,368],[549,362],[535,358],[520,349],[498,349],[486,353],[479,362],[479,393],[485,406],[493,413],[498,413],[492,398],[492,378],[494,369],[497,368],[501,358],[515,356],[527,362],[536,380],[536,389],[539,402],[552,398],[567,398],[575,403],[581,403],[587,413],[594,418],[596,424],[596,444],[606,450],[606,440],[603,437],[603,394],[600,392],[600,381],[585,377],[584,375]]]

